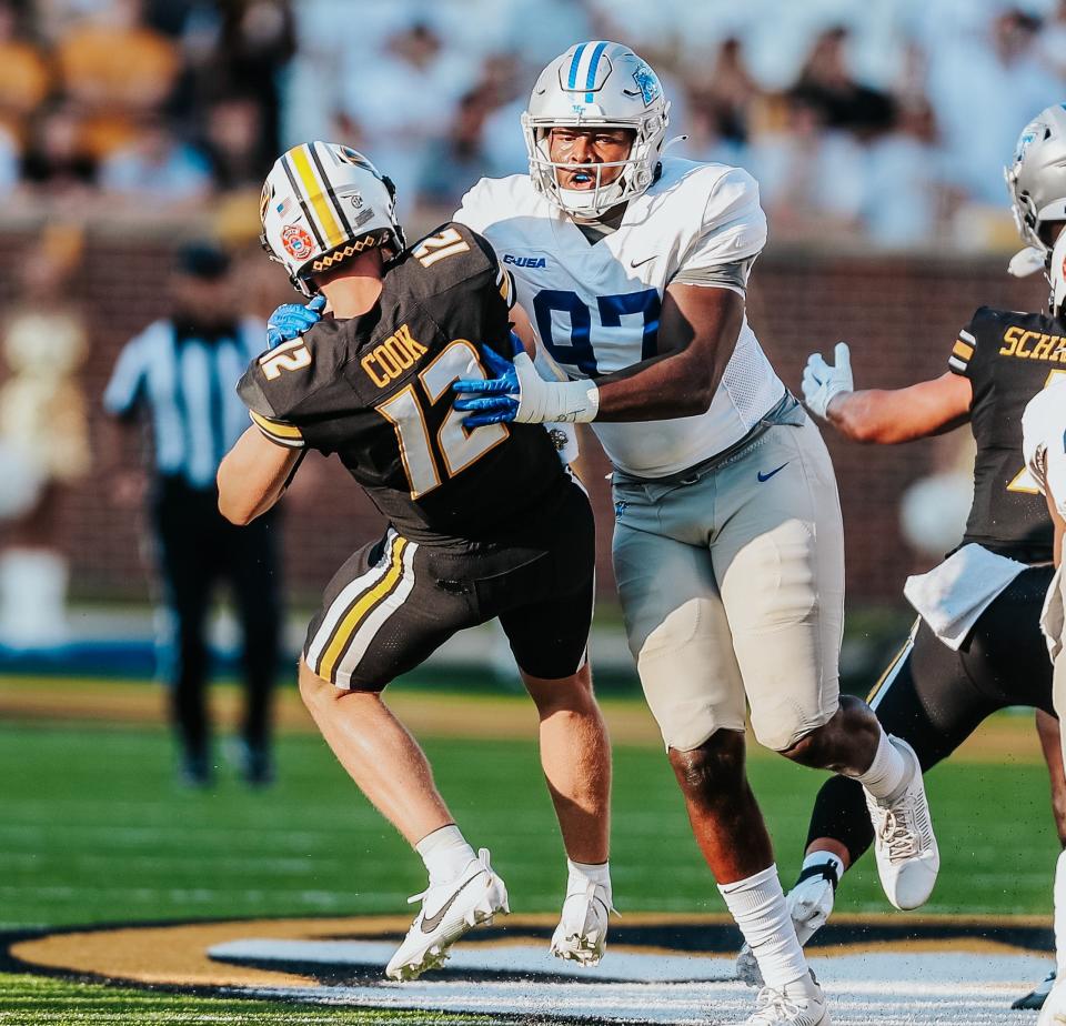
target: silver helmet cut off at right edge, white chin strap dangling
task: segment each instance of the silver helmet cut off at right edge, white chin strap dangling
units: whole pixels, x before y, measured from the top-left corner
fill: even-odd
[[[1042,110],[1022,130],[1004,177],[1018,233],[1046,261],[1052,248],[1040,228],[1046,221],[1066,221],[1066,105]]]

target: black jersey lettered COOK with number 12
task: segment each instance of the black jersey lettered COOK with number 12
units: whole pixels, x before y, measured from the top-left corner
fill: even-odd
[[[386,268],[376,306],[263,353],[238,386],[272,441],[336,453],[403,535],[489,539],[535,513],[564,471],[540,424],[469,431],[452,382],[510,355],[513,285],[490,244],[449,223]]]

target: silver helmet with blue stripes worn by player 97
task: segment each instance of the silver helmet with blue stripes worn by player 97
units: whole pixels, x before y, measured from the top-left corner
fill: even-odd
[[[522,114],[533,185],[575,218],[599,218],[655,180],[667,124],[670,101],[658,76],[640,57],[622,43],[577,43],[541,72]],[[556,125],[632,129],[633,144],[626,160],[589,167],[596,170],[594,189],[563,189],[555,172],[574,164],[551,159],[547,137]],[[622,173],[602,184],[603,171],[620,165]]]

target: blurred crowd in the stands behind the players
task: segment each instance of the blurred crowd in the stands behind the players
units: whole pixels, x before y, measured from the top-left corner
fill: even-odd
[[[758,178],[776,242],[1008,247],[1003,164],[1066,99],[1066,0],[0,0],[0,204],[253,231],[328,137],[429,224],[525,170],[536,73],[592,38],[660,71],[673,152]]]

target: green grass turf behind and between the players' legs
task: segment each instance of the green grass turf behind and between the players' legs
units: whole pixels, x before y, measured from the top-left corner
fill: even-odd
[[[636,708],[634,700],[630,712]],[[471,717],[480,712],[472,703]],[[625,703],[615,712],[625,713]],[[423,741],[466,835],[491,847],[512,909],[553,912],[563,856],[532,740]],[[157,724],[0,721],[2,927],[404,914],[408,895],[424,886],[421,864],[324,744],[306,731],[285,733],[279,768],[266,791],[249,791],[224,765],[210,791],[183,791]],[[823,776],[762,756],[750,772],[787,885]],[[1018,762],[971,754],[928,783],[943,867],[925,911],[1048,915],[1057,843],[1045,772],[1032,752]],[[616,746],[614,794],[612,866],[623,915],[724,911],[656,745]],[[869,859],[848,875],[837,908],[887,911]],[[403,1020],[0,975],[0,1023],[19,1026]]]

